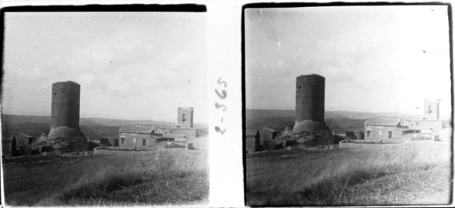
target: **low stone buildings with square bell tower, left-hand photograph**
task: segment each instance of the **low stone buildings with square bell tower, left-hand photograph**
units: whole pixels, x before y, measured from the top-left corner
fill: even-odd
[[[119,130],[119,148],[155,149],[164,147],[169,141],[185,142],[197,137],[193,125],[193,107],[178,107],[177,125],[130,124]]]

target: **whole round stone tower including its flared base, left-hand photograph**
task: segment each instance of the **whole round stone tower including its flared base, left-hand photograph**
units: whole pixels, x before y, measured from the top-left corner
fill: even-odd
[[[51,103],[50,141],[80,141],[79,131],[80,85],[71,81],[53,83]]]

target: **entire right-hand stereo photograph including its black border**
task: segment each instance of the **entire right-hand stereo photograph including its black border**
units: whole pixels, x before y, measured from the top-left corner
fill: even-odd
[[[246,205],[449,205],[449,3],[243,6]]]

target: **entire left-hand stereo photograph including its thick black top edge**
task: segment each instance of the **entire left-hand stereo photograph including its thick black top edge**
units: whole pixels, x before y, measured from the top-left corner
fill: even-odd
[[[3,205],[207,205],[206,10],[3,8]]]

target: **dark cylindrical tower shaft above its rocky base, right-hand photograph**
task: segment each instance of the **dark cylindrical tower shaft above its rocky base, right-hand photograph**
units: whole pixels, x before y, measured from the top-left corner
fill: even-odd
[[[295,121],[324,123],[325,78],[317,74],[299,76],[295,92]]]

